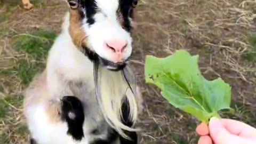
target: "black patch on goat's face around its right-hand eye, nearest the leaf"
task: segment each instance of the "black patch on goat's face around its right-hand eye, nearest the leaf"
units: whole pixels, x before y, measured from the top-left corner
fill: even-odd
[[[132,18],[133,14],[133,0],[119,0],[119,10],[122,13],[124,20],[124,29],[128,32],[131,31],[132,26],[129,18]]]

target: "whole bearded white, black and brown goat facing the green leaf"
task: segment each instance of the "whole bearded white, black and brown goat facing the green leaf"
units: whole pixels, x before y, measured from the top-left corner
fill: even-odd
[[[66,1],[46,68],[25,91],[30,143],[137,143],[142,97],[128,62],[138,2]]]

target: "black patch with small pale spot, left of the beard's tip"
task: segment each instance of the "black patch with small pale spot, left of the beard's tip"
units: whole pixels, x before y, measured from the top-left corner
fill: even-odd
[[[70,118],[69,113],[75,117]],[[84,109],[82,102],[74,96],[65,96],[61,99],[61,119],[68,123],[67,134],[70,134],[75,140],[80,141],[84,137]]]

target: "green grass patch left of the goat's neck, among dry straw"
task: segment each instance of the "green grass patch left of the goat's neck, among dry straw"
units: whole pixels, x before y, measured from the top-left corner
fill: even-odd
[[[35,74],[42,70],[43,61],[56,37],[57,34],[49,30],[14,36],[13,47],[18,52],[28,54],[29,59],[18,59],[13,68],[1,70],[0,75],[15,75],[21,79],[22,84],[29,84]]]

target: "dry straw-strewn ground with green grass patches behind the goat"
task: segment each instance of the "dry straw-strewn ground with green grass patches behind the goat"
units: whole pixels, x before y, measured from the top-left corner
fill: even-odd
[[[0,5],[0,144],[28,143],[22,90],[45,65],[67,11],[60,0],[31,3],[31,10],[18,0]],[[179,49],[199,55],[207,79],[221,77],[231,85],[235,113],[222,111],[221,116],[256,126],[255,1],[140,0],[137,9],[132,65],[145,106],[138,123],[143,130],[140,143],[197,143],[199,122],[172,107],[144,79],[146,55],[166,57]]]

